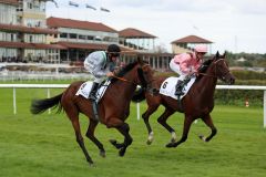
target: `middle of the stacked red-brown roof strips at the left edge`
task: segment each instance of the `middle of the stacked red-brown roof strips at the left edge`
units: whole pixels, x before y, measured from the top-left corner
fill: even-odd
[[[2,24],[0,23],[0,31],[14,31],[37,34],[57,34],[57,30],[44,29],[44,28],[29,28],[24,25]]]

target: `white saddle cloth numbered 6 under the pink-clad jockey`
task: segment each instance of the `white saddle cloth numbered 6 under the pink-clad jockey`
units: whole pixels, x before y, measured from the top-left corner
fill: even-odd
[[[180,80],[178,77],[174,76],[167,77],[160,87],[160,94],[177,100],[177,96],[175,95],[175,85],[178,80]],[[196,77],[193,76],[191,81],[183,87],[182,91],[184,95],[181,95],[180,100],[182,100],[187,94],[195,80]]]

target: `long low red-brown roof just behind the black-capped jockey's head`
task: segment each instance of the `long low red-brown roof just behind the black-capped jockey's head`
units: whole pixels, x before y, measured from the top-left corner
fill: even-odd
[[[95,43],[74,43],[74,42],[58,42],[59,45],[62,45],[68,49],[90,49],[90,50],[103,50],[105,51],[108,49],[109,44],[95,44]],[[130,49],[120,46],[121,51],[132,51]]]

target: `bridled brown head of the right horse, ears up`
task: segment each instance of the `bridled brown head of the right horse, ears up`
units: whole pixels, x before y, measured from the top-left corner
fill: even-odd
[[[226,53],[221,55],[219,52],[217,52],[213,58],[211,67],[213,69],[214,75],[217,76],[221,81],[227,84],[234,84],[235,76],[229,72],[228,64],[225,61],[225,55]]]

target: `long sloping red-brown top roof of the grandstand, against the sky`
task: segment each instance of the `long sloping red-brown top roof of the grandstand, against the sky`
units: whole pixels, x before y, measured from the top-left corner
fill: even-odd
[[[79,20],[71,20],[71,19],[61,19],[61,18],[48,18],[47,24],[50,28],[71,28],[71,29],[82,29],[82,30],[92,30],[92,31],[104,31],[104,32],[115,32],[116,30],[96,22],[89,22],[89,21],[79,21]]]

